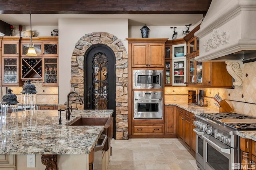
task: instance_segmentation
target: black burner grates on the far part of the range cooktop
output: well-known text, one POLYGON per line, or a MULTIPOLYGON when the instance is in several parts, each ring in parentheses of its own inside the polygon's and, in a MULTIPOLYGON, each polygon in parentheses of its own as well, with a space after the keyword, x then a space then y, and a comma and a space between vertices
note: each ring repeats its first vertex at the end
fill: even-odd
POLYGON ((201 113, 201 115, 214 121, 220 121, 220 119, 255 119, 254 117, 242 115, 239 113, 201 113))

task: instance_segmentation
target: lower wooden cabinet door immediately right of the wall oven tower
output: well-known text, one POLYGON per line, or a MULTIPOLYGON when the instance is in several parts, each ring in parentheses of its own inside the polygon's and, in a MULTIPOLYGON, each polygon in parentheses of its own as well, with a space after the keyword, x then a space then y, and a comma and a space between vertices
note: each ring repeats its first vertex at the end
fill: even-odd
POLYGON ((176 135, 176 107, 166 106, 165 115, 165 135, 176 135))

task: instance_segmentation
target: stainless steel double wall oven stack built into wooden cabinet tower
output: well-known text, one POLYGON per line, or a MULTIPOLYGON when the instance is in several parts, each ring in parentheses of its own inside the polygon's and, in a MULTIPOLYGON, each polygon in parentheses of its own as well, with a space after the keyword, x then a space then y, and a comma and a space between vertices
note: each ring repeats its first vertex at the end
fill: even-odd
POLYGON ((163 119, 163 70, 134 70, 134 119, 163 119), (146 90, 146 91, 144 91, 146 90))

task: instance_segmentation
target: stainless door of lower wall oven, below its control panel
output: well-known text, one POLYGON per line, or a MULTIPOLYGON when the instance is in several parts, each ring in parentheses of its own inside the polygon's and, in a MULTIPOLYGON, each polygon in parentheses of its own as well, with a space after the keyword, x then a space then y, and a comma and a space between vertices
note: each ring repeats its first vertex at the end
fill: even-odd
POLYGON ((163 98, 134 97, 134 119, 162 119, 163 98))

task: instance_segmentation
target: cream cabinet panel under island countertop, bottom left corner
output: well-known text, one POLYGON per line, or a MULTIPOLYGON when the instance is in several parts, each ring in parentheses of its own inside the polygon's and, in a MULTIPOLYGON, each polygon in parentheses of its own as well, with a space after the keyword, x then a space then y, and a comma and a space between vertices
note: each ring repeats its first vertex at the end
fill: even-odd
POLYGON ((0 155, 1 170, 16 170, 16 155, 1 154, 0 155))

